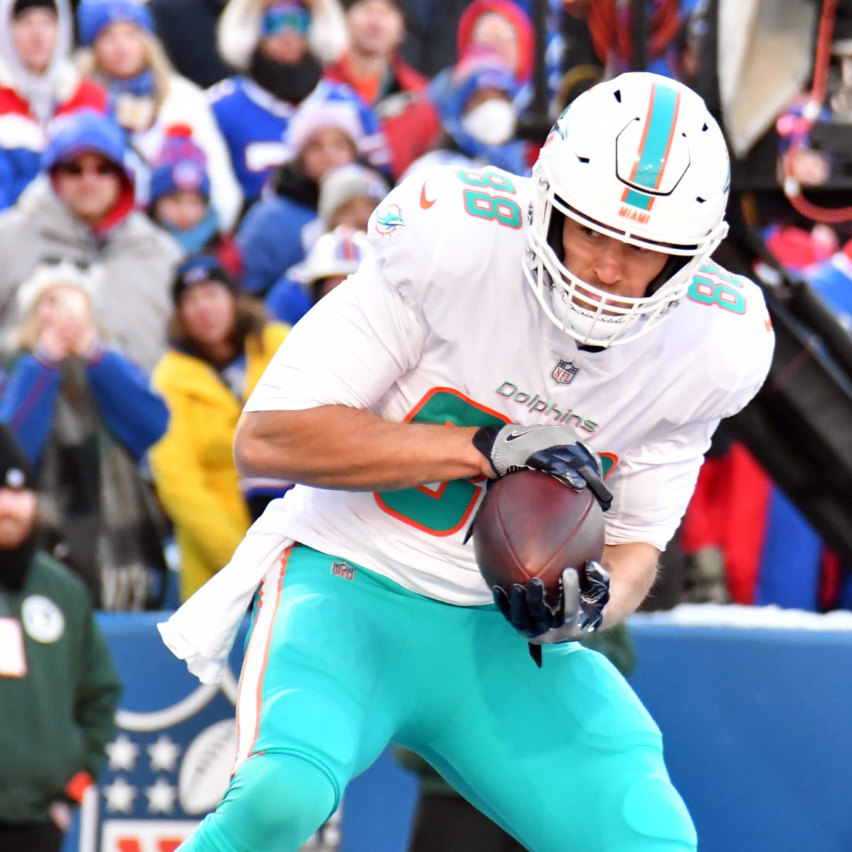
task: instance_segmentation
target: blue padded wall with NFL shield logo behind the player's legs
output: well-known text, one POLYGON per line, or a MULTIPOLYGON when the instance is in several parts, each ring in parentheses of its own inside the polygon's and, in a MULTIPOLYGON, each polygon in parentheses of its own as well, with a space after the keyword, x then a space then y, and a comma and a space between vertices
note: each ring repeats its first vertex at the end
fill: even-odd
MULTIPOLYGON (((852 849, 848 617, 818 630, 631 620, 630 682, 663 731, 701 852, 852 849)), ((110 765, 63 852, 172 852, 225 783, 242 635, 223 688, 202 687, 160 642, 158 618, 99 616, 124 695, 110 765)), ((415 792, 385 753, 348 789, 341 852, 404 852, 415 792)))

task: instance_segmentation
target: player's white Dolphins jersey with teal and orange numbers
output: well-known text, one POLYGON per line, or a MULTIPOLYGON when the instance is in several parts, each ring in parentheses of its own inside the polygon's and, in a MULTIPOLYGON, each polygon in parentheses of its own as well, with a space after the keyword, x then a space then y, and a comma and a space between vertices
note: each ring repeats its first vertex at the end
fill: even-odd
MULTIPOLYGON (((656 330, 579 349, 524 279, 530 190, 493 169, 403 181, 371 218, 371 254, 294 327, 245 410, 340 404, 393 421, 570 423, 607 470, 607 544, 663 550, 719 419, 769 370, 763 294, 710 262, 656 330)), ((463 538, 483 492, 481 481, 383 493, 298 485, 263 523, 407 589, 475 605, 492 596, 463 538)))

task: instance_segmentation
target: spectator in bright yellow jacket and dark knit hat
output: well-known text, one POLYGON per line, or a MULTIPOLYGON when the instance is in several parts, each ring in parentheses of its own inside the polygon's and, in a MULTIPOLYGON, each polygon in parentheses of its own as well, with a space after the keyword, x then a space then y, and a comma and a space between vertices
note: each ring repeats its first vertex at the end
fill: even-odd
POLYGON ((289 329, 268 322, 250 296, 239 295, 212 256, 181 264, 172 300, 170 348, 153 373, 170 425, 150 458, 175 525, 186 600, 230 560, 251 520, 289 486, 240 482, 231 449, 243 404, 289 329))

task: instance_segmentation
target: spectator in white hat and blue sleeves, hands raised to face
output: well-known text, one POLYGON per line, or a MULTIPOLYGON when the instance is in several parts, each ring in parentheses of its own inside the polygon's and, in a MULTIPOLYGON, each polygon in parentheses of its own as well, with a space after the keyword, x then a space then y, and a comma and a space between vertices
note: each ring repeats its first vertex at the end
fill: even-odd
POLYGON ((75 570, 97 606, 153 606, 164 579, 163 518, 139 463, 169 412, 96 323, 101 270, 45 259, 17 292, 17 348, 0 397, 33 467, 46 548, 75 570))

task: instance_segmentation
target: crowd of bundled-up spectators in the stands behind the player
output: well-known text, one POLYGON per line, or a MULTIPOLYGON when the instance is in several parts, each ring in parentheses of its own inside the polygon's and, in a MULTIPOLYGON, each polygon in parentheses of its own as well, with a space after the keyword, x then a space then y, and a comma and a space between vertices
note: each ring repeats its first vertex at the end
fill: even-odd
MULTIPOLYGON (((548 4, 549 118, 630 67, 631 5, 548 4)), ((694 76, 701 6, 648 3, 653 70, 694 76)), ((239 481, 233 426, 287 327, 357 262, 389 188, 432 164, 528 174, 540 141, 520 130, 535 100, 532 11, 524 0, 0 3, 0 420, 37 471, 50 552, 96 606, 185 598, 286 488, 239 481)), ((767 243, 848 317, 837 281, 849 280, 849 245, 815 233, 776 227, 767 243)), ((825 608, 830 555, 812 545, 821 567, 795 594, 771 577, 768 513, 782 498, 745 448, 718 445, 678 542, 678 599, 825 608), (737 504, 751 537, 726 541, 733 527, 714 513, 730 509, 718 489, 730 502, 734 467, 734 482, 751 481, 751 502, 737 504)))

